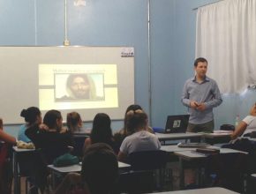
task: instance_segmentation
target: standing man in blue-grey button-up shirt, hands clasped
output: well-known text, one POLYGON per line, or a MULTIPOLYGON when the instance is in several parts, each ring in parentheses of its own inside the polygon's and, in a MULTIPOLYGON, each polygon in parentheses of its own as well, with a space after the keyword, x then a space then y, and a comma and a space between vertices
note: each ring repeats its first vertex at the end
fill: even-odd
POLYGON ((189 132, 213 132, 215 129, 213 108, 222 103, 222 96, 214 79, 207 77, 207 59, 194 62, 196 75, 186 80, 182 103, 189 108, 189 132))

